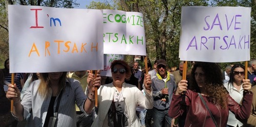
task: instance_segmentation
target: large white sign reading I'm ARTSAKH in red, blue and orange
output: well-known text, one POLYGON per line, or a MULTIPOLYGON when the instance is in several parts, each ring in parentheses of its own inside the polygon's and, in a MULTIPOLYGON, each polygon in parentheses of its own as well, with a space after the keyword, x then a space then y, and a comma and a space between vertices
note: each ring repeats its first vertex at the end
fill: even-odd
POLYGON ((8 8, 10 72, 103 69, 102 10, 8 8))

